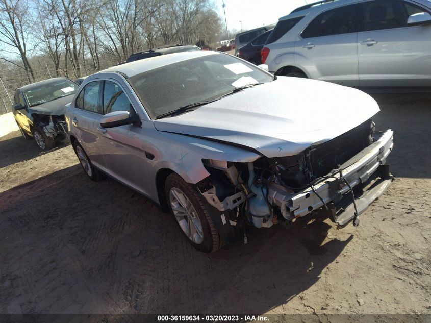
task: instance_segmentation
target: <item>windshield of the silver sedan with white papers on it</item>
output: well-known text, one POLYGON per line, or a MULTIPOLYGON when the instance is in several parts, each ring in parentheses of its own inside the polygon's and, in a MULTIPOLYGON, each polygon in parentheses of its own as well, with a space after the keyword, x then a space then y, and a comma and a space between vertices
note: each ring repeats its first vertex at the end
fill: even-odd
POLYGON ((271 82, 272 76, 236 57, 214 54, 143 72, 128 81, 150 117, 156 118, 247 84, 271 82))

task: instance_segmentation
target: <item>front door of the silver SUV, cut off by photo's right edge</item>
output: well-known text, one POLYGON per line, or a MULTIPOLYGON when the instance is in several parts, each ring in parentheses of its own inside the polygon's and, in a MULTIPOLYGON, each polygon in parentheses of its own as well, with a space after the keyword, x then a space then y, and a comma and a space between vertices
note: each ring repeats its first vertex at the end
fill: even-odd
POLYGON ((428 12, 403 0, 363 3, 358 34, 360 86, 430 86, 431 26, 407 26, 428 12))

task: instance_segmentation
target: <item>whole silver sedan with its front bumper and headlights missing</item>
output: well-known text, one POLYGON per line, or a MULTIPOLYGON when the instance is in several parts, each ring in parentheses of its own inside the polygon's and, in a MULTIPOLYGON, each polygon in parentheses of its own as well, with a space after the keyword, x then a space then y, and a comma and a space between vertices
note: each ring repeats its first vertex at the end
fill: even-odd
POLYGON ((245 238, 247 225, 314 211, 358 225, 392 179, 392 131, 374 131, 378 111, 356 89, 196 51, 89 76, 66 120, 90 179, 138 191, 211 253, 245 238))

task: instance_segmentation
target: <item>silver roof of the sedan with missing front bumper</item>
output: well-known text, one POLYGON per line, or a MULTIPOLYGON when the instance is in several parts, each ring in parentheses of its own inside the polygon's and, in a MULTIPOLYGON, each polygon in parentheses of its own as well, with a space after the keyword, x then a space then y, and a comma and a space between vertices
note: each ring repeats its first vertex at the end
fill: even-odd
POLYGON ((214 52, 214 51, 189 51, 189 52, 172 53, 169 55, 149 57, 143 60, 137 60, 130 63, 122 64, 122 65, 113 66, 113 67, 104 69, 102 71, 99 71, 96 74, 115 72, 115 73, 122 74, 122 76, 124 77, 130 78, 137 74, 140 74, 152 69, 156 69, 159 67, 163 67, 166 65, 186 61, 197 57, 203 57, 208 55, 219 55, 219 54, 221 53, 214 52))

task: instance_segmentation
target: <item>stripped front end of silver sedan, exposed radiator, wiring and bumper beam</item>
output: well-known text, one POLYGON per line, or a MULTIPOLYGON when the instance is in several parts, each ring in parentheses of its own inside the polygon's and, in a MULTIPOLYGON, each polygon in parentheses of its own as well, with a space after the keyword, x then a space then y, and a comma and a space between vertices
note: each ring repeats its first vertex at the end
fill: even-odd
POLYGON ((298 155, 250 163, 204 160, 211 176, 197 184, 224 225, 258 228, 312 212, 345 226, 389 187, 386 159, 393 131, 376 132, 372 120, 298 155))

